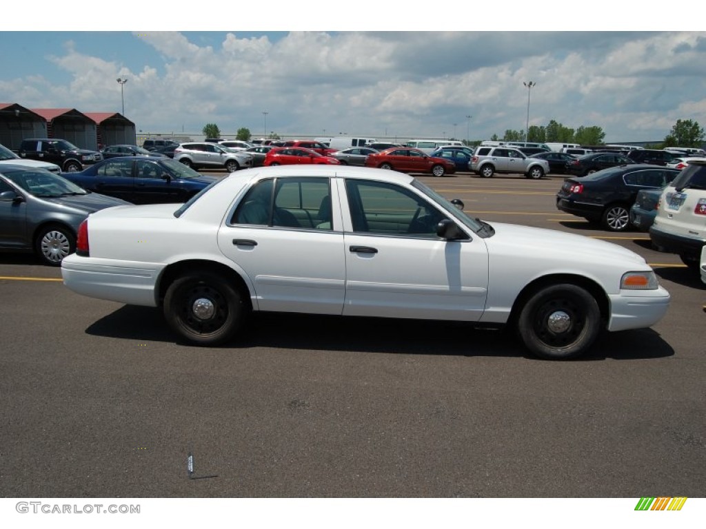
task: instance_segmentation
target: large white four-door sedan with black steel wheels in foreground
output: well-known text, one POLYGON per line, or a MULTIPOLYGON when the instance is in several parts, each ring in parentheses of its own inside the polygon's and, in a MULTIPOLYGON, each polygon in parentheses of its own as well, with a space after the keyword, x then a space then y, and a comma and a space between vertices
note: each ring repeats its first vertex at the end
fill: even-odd
POLYGON ((345 166, 247 169, 184 205, 96 212, 61 273, 85 296, 161 307, 205 346, 260 310, 507 325, 542 358, 575 358, 669 306, 621 246, 491 226, 411 176, 345 166))

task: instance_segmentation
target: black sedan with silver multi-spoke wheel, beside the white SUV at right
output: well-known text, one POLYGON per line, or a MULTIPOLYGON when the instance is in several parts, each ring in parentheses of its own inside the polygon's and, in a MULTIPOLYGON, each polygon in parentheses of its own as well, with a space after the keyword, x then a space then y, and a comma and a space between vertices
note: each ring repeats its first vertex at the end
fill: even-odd
POLYGON ((600 222, 609 231, 630 228, 630 207, 641 189, 662 189, 678 176, 677 169, 648 164, 611 167, 583 178, 566 178, 556 193, 563 212, 600 222))

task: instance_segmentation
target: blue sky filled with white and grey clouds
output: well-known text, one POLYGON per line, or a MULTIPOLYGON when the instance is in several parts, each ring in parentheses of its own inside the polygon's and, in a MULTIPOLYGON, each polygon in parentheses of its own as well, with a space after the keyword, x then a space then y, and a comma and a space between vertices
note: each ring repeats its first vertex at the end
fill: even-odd
MULTIPOLYGON (((415 13, 417 22, 429 16, 415 13)), ((706 125, 706 32, 287 24, 277 20, 270 32, 2 31, 0 102, 120 112, 116 78, 124 78, 125 115, 143 133, 198 134, 216 123, 226 135, 246 127, 253 137, 487 139, 525 128, 528 95, 530 125, 600 126, 606 142, 662 140, 680 118, 706 125), (530 80, 537 84, 528 92, 530 80)))

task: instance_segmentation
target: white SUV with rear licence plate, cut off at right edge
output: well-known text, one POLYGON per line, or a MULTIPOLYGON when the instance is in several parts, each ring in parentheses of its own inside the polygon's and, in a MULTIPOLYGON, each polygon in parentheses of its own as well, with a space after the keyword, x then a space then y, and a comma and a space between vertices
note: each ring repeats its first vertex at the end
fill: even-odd
POLYGON ((678 254, 688 267, 698 269, 701 249, 706 245, 706 160, 690 162, 664 188, 650 239, 678 254))

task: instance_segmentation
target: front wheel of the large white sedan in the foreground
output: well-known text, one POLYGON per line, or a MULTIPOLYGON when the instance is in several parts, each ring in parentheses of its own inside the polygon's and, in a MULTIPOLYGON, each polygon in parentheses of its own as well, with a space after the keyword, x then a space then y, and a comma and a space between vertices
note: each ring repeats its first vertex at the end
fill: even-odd
POLYGON ((537 291, 522 307, 517 332, 539 358, 577 358, 600 331, 598 303, 580 286, 557 284, 537 291))

